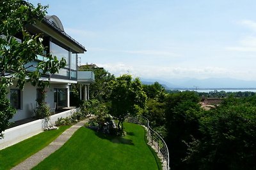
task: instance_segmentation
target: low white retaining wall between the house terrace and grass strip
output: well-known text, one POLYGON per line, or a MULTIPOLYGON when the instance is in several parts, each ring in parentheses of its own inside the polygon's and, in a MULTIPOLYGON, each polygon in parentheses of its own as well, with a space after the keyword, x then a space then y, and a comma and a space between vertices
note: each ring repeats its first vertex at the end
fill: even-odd
MULTIPOLYGON (((55 125, 55 122, 56 120, 58 120, 58 118, 69 117, 74 112, 76 112, 76 109, 63 111, 56 115, 52 115, 51 122, 55 125)), ((33 122, 29 122, 28 124, 23 124, 17 127, 6 129, 6 131, 4 131, 4 138, 0 139, 0 150, 8 146, 12 146, 15 143, 19 143, 20 141, 30 138, 31 136, 34 136, 40 132, 43 132, 45 129, 45 125, 47 125, 47 122, 45 122, 44 119, 40 119, 35 120, 33 122)))

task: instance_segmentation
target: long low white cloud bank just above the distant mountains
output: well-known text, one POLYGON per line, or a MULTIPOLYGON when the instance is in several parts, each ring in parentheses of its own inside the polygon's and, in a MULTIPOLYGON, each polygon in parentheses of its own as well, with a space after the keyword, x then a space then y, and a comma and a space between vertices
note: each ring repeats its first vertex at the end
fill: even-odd
MULTIPOLYGON (((134 67, 125 65, 123 63, 111 63, 111 64, 98 64, 100 67, 104 67, 109 73, 120 76, 121 74, 132 74, 141 78, 157 78, 157 79, 172 79, 172 78, 241 78, 244 79, 245 75, 248 75, 248 71, 227 69, 224 67, 158 67, 158 66, 140 66, 134 67)), ((252 74, 252 73, 251 73, 252 74)))

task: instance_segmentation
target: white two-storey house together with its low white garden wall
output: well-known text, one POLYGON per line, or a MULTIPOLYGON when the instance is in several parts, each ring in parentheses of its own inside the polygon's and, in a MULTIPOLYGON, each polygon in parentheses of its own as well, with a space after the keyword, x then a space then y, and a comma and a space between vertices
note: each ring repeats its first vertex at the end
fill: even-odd
MULTIPOLYGON (((27 30, 31 34, 44 34, 43 44, 45 45, 45 56, 38 55, 37 59, 31 63, 36 65, 41 60, 46 59, 46 54, 51 53, 56 55, 58 59, 64 57, 67 61, 67 66, 60 69, 57 74, 45 74, 42 80, 49 80, 50 85, 47 89, 47 97, 45 102, 51 107, 56 103, 56 110, 70 107, 70 85, 72 83, 80 83, 80 93, 84 88, 84 100, 89 99, 89 86, 93 83, 95 76, 92 71, 77 71, 77 59, 79 53, 86 52, 83 45, 75 39, 68 36, 64 31, 63 25, 55 15, 46 16, 42 22, 37 22, 35 25, 28 25, 27 30)), ((19 35, 16 37, 18 41, 19 35)), ((33 71, 29 70, 29 71, 33 71)), ((13 107, 17 109, 17 113, 13 116, 10 122, 24 122, 35 115, 36 99, 38 98, 37 87, 33 87, 30 83, 26 83, 24 90, 20 90, 14 85, 9 89, 8 97, 13 107)), ((80 99, 82 94, 80 94, 80 99)), ((51 122, 54 122, 60 117, 68 117, 74 113, 76 109, 62 111, 50 117, 51 122)), ((18 125, 3 132, 4 138, 0 139, 0 150, 8 146, 14 145, 26 138, 42 132, 47 127, 48 121, 45 119, 35 120, 27 124, 18 125)))

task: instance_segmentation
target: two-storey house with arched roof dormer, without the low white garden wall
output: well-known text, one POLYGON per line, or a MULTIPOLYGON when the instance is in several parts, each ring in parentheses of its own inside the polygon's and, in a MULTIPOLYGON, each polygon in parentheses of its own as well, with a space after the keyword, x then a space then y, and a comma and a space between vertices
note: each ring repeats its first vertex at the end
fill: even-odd
MULTIPOLYGON (((38 62, 47 59, 47 53, 51 53, 51 55, 56 56, 58 59, 65 58, 67 61, 67 66, 60 69, 59 73, 45 74, 41 78, 50 82, 49 87, 45 89, 47 96, 45 102, 47 105, 50 108, 56 105, 56 110, 69 108, 70 85, 72 83, 81 83, 81 88, 84 88, 84 99, 88 99, 89 85, 94 82, 94 74, 92 71, 77 71, 78 55, 86 52, 84 46, 68 36, 60 19, 55 15, 46 16, 42 22, 28 25, 26 29, 31 34, 43 34, 43 44, 45 46, 44 55, 38 55, 36 60, 28 63, 29 65, 33 64, 36 66, 38 62)), ((17 39, 21 41, 19 35, 17 39)), ((28 71, 33 71, 33 69, 28 71)), ((33 117, 35 115, 36 99, 40 96, 37 87, 26 83, 24 90, 20 90, 14 82, 14 85, 8 90, 10 92, 8 94, 10 103, 17 109, 17 113, 10 121, 15 122, 33 117)))

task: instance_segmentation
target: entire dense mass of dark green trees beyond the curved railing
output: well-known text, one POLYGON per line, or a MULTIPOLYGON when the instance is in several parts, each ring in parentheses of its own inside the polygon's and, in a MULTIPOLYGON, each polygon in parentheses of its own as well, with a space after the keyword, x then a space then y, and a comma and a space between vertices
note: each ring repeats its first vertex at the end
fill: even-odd
POLYGON ((143 115, 167 132, 172 169, 256 169, 256 96, 227 97, 209 111, 199 101, 196 92, 147 101, 143 115))

